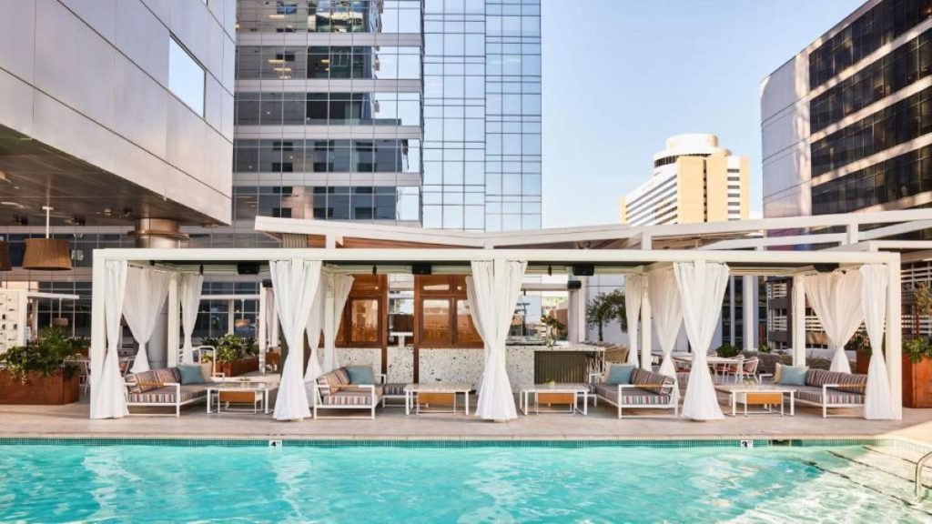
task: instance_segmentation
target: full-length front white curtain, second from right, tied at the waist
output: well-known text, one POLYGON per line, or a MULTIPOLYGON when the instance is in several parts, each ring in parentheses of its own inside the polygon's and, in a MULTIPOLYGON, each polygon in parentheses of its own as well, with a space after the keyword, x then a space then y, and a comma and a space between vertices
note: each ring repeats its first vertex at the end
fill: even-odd
POLYGON ((721 300, 728 285, 728 266, 705 260, 676 262, 673 272, 677 277, 686 336, 692 344, 692 369, 683 398, 683 417, 694 421, 723 419, 706 365, 706 352, 719 322, 721 300))

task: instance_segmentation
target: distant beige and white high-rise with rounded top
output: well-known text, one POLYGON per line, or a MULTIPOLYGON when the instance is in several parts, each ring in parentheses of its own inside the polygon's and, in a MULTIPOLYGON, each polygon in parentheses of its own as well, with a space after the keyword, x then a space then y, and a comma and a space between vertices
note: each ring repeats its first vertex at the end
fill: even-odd
POLYGON ((714 134, 678 134, 653 157, 653 176, 621 200, 623 224, 741 220, 748 215, 747 157, 714 134))

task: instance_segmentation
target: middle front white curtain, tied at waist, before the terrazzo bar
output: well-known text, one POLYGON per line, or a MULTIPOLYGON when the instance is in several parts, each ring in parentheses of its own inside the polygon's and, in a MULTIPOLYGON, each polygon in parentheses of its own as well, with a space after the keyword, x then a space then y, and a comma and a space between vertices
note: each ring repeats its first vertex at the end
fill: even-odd
POLYGON ((466 278, 470 314, 485 345, 485 365, 475 408, 475 415, 483 419, 517 418, 505 368, 505 340, 527 268, 527 262, 478 260, 473 261, 473 275, 466 278))

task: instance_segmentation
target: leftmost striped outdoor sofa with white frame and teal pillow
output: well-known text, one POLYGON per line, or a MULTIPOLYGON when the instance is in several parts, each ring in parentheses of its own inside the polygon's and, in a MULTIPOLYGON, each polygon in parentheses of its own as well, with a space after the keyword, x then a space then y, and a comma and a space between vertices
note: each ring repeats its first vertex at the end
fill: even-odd
POLYGON ((211 384, 210 380, 202 384, 182 384, 177 367, 130 373, 124 382, 128 407, 174 407, 175 417, 181 416, 182 406, 206 400, 211 384))

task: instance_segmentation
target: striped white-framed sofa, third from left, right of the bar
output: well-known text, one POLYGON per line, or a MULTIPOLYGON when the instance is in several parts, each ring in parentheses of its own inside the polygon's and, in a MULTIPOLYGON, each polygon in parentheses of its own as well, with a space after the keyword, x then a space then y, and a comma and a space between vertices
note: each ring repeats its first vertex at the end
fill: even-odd
MULTIPOLYGON (((629 384, 592 384, 592 392, 598 401, 609 403, 618 408, 618 418, 622 418, 622 410, 627 408, 642 409, 673 409, 674 418, 679 416, 678 394, 676 381, 654 373, 647 369, 636 368, 631 373, 629 384)), ((648 417, 649 415, 640 415, 648 417)))

